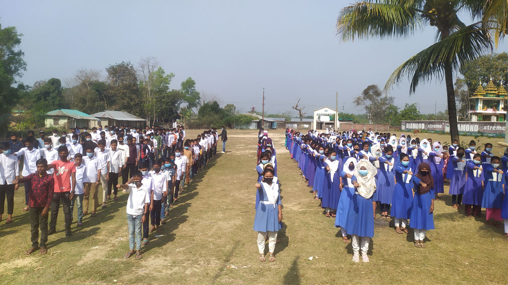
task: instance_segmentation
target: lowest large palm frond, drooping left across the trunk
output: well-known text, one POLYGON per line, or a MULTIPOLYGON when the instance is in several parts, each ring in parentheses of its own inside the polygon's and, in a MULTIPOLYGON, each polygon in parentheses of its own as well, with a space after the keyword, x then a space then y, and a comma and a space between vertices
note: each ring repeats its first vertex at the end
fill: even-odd
POLYGON ((421 82, 431 81, 432 77, 442 79, 445 64, 457 71, 461 64, 479 57, 489 48, 492 50, 492 42, 481 23, 466 26, 400 65, 386 83, 385 92, 407 76, 411 82, 409 93, 414 93, 421 82))

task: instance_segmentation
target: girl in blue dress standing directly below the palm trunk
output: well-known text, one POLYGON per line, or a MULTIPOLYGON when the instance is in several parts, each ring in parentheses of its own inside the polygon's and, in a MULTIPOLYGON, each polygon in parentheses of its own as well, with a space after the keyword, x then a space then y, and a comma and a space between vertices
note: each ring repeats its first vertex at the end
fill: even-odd
POLYGON ((464 194, 464 185, 466 183, 466 174, 464 168, 466 159, 464 158, 464 148, 457 149, 457 155, 450 157, 452 164, 452 179, 450 180, 449 193, 452 195, 452 204, 454 209, 458 209, 462 202, 462 194, 464 194))

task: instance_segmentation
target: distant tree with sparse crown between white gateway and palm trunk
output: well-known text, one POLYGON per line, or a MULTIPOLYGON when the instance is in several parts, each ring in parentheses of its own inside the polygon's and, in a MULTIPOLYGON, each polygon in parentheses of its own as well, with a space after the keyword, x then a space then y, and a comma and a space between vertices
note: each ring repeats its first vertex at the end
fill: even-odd
POLYGON ((395 98, 385 96, 377 85, 369 85, 362 94, 355 98, 357 106, 364 106, 367 115, 370 115, 374 124, 385 123, 388 106, 393 105, 395 98))

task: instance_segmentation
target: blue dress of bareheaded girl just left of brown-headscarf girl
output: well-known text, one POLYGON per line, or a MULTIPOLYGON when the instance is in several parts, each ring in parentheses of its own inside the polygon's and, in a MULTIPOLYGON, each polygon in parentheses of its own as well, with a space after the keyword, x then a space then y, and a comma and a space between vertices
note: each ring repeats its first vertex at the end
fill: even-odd
POLYGON ((400 163, 395 167, 395 189, 393 191, 392 209, 390 216, 396 219, 409 219, 413 201, 412 175, 403 173, 404 170, 411 171, 409 166, 400 163))

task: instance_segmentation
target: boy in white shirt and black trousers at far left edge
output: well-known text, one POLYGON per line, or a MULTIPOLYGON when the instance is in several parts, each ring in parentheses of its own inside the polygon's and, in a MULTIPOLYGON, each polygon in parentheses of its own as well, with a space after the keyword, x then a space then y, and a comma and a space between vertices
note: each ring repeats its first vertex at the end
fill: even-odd
POLYGON ((12 223, 12 213, 14 212, 14 191, 18 190, 18 185, 13 181, 19 179, 18 158, 11 154, 11 145, 9 142, 2 142, 3 154, 0 154, 0 221, 4 215, 4 203, 7 197, 7 215, 6 224, 12 223))

